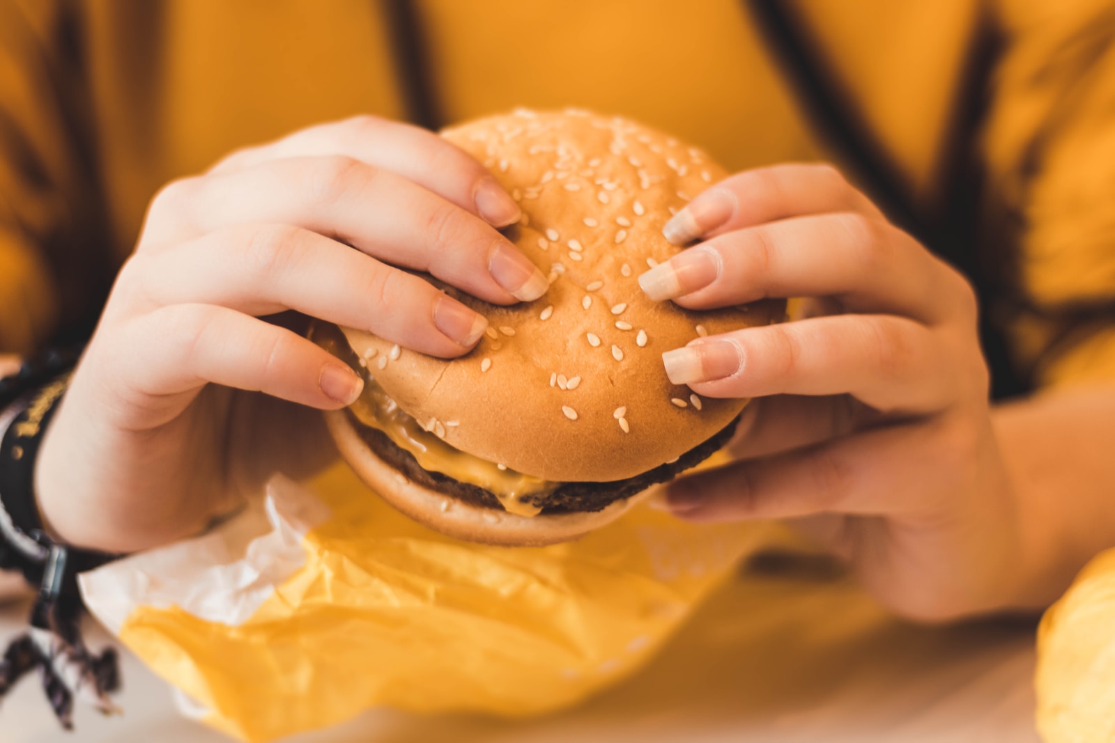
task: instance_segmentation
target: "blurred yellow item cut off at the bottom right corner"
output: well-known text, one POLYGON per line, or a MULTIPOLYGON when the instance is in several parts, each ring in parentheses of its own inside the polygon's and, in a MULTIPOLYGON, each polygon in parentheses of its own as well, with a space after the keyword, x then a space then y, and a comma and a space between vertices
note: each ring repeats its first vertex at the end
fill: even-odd
POLYGON ((1047 743, 1115 741, 1115 549, 1094 558, 1043 617, 1037 696, 1047 743))

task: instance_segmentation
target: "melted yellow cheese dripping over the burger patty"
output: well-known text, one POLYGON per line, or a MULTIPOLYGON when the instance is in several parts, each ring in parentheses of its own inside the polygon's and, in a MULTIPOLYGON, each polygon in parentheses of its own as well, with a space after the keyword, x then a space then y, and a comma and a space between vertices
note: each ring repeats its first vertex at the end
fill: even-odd
POLYGON ((500 469, 494 462, 454 449, 423 429, 367 373, 363 392, 350 409, 361 423, 382 431, 395 446, 414 454, 424 470, 440 472, 488 490, 508 514, 536 516, 542 508, 524 501, 524 498, 558 487, 554 482, 530 475, 500 469))

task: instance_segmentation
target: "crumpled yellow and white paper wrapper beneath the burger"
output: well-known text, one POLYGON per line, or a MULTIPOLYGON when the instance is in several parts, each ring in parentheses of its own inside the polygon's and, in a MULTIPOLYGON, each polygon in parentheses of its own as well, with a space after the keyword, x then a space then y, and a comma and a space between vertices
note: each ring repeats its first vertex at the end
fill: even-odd
POLYGON ((646 663, 772 527, 646 506, 578 541, 436 534, 343 465, 260 508, 81 576, 90 610, 193 715, 244 741, 375 705, 536 715, 646 663))

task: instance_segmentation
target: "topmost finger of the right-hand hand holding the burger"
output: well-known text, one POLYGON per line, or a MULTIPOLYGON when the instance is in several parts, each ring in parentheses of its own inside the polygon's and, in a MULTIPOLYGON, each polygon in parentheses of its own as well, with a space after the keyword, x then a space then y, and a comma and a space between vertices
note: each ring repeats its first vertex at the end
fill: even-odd
POLYGON ((840 170, 823 163, 787 163, 745 170, 697 195, 662 227, 675 245, 701 236, 753 227, 806 214, 882 213, 852 187, 840 170))

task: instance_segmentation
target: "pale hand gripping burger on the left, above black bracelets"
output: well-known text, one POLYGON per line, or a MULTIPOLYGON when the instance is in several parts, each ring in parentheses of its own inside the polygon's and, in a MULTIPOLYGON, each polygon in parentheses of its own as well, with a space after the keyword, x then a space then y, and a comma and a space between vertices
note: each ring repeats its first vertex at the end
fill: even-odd
POLYGON ((372 117, 171 183, 40 450, 48 528, 79 547, 143 549, 197 532, 275 470, 327 463, 312 409, 345 407, 362 383, 259 317, 293 310, 460 355, 486 320, 392 265, 496 304, 537 299, 545 276, 496 231, 518 215, 464 151, 372 117))

